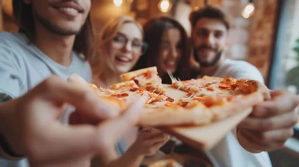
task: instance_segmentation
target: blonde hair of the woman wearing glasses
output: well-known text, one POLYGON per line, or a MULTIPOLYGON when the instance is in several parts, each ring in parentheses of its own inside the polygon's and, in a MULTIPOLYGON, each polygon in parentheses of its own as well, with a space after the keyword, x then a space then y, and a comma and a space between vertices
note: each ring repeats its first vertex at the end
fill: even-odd
POLYGON ((105 26, 103 26, 100 31, 99 38, 99 48, 98 48, 98 56, 91 62, 91 67, 93 70, 93 75, 98 76, 102 74, 105 70, 107 70, 107 54, 108 49, 110 48, 108 45, 112 42, 113 38, 118 32, 118 29, 126 23, 133 23, 137 26, 137 28, 141 31, 142 38, 144 35, 144 31, 142 29, 141 24, 137 22, 134 18, 130 16, 121 16, 111 19, 105 26))

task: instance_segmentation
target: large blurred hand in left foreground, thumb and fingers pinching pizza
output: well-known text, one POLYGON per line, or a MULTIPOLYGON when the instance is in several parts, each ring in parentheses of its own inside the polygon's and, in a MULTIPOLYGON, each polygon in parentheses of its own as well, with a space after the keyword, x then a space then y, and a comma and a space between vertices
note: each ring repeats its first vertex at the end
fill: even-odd
POLYGON ((14 152, 31 166, 89 166, 95 154, 105 154, 139 117, 144 102, 136 100, 119 118, 88 90, 59 77, 49 77, 24 96, 0 104, 1 134, 14 152), (104 120, 100 125, 62 125, 59 117, 72 104, 80 113, 104 120))

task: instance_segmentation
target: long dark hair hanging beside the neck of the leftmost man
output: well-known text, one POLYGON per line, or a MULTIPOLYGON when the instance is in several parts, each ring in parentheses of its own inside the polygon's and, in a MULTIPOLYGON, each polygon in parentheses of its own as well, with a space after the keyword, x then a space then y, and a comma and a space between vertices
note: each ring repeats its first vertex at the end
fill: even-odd
MULTIPOLYGON (((22 0, 13 0, 13 15, 15 15, 16 22, 20 27, 19 32, 24 33, 31 41, 33 41, 35 26, 31 4, 26 4, 22 0)), ((96 51, 95 42, 95 33, 89 13, 82 30, 76 36, 73 49, 79 54, 83 54, 86 60, 92 60, 96 51)))

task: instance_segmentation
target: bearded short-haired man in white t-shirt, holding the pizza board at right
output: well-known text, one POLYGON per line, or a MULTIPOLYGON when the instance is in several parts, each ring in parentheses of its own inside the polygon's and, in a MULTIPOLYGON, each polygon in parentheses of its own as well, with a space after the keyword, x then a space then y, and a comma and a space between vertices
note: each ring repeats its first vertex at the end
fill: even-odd
MULTIPOLYGON (((225 58, 229 46, 229 17, 213 6, 190 14, 194 58, 200 64, 201 76, 248 78, 263 82, 261 72, 245 61, 225 58)), ((207 152, 215 166, 272 166, 267 151, 284 145, 293 135, 298 105, 295 95, 273 91, 272 100, 254 108, 252 114, 233 132, 207 152), (283 101, 283 102, 282 102, 283 101), (284 102, 286 102, 284 104, 284 102), (236 132, 236 133, 235 133, 236 132)))

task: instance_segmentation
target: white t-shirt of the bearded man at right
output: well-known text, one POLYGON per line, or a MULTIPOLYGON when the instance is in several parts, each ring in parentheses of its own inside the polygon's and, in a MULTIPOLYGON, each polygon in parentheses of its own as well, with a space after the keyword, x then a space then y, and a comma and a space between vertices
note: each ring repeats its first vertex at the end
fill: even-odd
MULTIPOLYGON (((224 60, 213 77, 233 77, 235 79, 255 79, 263 83, 261 72, 245 61, 224 60)), ((222 167, 270 167, 272 166, 268 152, 253 154, 247 152, 238 140, 229 132, 215 148, 206 152, 215 166, 222 167)))

